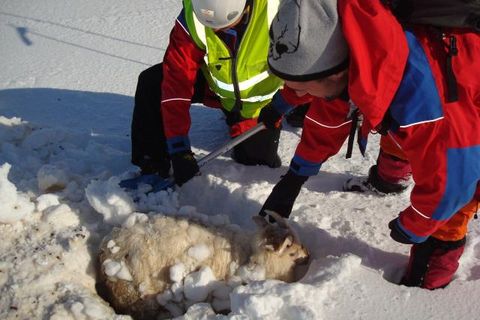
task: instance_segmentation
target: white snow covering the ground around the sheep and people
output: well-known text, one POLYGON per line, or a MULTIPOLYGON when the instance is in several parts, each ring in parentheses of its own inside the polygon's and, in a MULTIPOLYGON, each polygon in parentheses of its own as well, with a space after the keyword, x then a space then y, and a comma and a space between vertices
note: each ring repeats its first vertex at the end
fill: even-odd
MULTIPOLYGON (((137 170, 129 163, 129 130, 138 74, 162 60, 180 5, 2 1, 1 319, 129 319, 115 314, 95 287, 96 253, 114 226, 145 221, 142 213, 164 213, 203 215, 217 225, 231 221, 251 230, 251 217, 286 172, 301 133, 288 125, 280 142, 281 168, 246 167, 226 155, 176 190, 142 195, 118 186, 137 170)), ((228 141, 218 110, 197 105, 191 113, 197 156, 228 141)), ((380 197, 341 191, 347 178, 367 173, 377 143, 377 137, 370 140, 365 158, 356 152, 346 160, 343 148, 305 184, 290 219, 312 257, 299 282, 256 281, 231 291, 216 287, 211 271, 202 269, 171 293, 191 298, 187 314, 173 304, 172 311, 179 319, 476 319, 477 221, 470 224, 451 285, 407 288, 395 282, 409 248, 389 238, 387 223, 408 204, 408 192, 380 197), (209 292, 216 309, 227 306, 228 314, 194 303, 209 292)), ((192 254, 201 259, 204 249, 192 254)), ((185 276, 180 265, 172 269, 172 279, 185 276)), ((119 262, 108 270, 129 276, 119 262)))

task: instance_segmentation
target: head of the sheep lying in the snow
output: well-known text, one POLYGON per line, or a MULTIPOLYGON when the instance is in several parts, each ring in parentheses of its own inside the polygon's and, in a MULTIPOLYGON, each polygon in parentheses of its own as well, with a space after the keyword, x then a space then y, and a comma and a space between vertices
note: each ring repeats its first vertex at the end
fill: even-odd
POLYGON ((299 274, 298 267, 308 263, 308 251, 283 217, 276 212, 267 213, 276 223, 270 224, 259 216, 253 218, 260 231, 256 236, 250 263, 264 266, 266 278, 296 281, 303 276, 299 274))

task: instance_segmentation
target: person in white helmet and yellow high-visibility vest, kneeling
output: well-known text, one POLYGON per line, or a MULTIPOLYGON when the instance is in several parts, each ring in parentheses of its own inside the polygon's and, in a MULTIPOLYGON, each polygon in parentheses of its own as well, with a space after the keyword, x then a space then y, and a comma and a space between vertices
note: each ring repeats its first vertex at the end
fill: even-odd
MULTIPOLYGON (((220 108, 232 137, 252 128, 257 121, 264 121, 262 112, 266 105, 273 105, 266 112, 275 115, 290 108, 280 94, 275 94, 282 81, 268 72, 268 17, 276 9, 270 7, 270 2, 183 2, 163 62, 144 70, 138 79, 131 125, 131 161, 140 167, 143 177, 167 177, 172 165, 175 182, 182 185, 198 173, 188 137, 191 103, 220 108), (205 39, 199 36, 200 32, 205 39), (253 38, 265 41, 259 43, 253 38), (250 51, 264 51, 265 56, 249 56, 250 51), (216 64, 211 61, 215 55, 220 55, 215 57, 216 64), (215 78, 214 72, 220 69, 228 71, 230 79, 215 78), (245 75, 250 78, 238 79, 245 75), (231 95, 235 91, 234 98, 226 96, 227 90, 231 95), (225 102, 227 99, 230 100, 225 102), (232 100, 233 107, 228 105, 232 100)), ((245 165, 280 167, 280 130, 273 126, 235 146, 233 159, 245 165)), ((133 179, 133 187, 142 181, 142 175, 133 179)), ((129 185, 130 182, 126 186, 129 185)))

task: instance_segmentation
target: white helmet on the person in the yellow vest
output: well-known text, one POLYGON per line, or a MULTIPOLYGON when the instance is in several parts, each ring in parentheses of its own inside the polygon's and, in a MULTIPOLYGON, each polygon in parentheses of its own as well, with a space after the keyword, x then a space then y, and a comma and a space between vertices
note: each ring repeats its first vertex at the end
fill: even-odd
POLYGON ((198 20, 212 29, 222 29, 237 21, 247 0, 192 0, 198 20))

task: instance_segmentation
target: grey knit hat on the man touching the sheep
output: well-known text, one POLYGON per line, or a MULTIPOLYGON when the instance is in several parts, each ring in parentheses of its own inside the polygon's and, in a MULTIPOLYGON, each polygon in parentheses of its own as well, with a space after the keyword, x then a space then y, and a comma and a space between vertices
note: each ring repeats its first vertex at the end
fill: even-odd
POLYGON ((270 26, 270 70, 291 81, 335 74, 348 65, 337 0, 282 0, 270 26))

